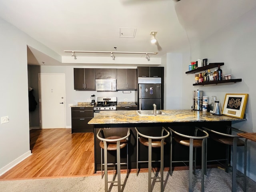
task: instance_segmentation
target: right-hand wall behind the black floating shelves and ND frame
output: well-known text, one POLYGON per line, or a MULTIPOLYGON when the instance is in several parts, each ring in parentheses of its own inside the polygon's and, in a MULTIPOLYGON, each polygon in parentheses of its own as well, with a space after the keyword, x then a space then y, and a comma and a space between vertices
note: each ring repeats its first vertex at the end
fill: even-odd
MULTIPOLYGON (((247 132, 256 132, 256 8, 247 12, 234 22, 224 26, 217 32, 198 42, 191 47, 191 55, 184 54, 183 77, 190 85, 182 84, 182 96, 192 102, 191 90, 203 90, 204 96, 217 96, 223 105, 226 93, 248 93, 246 113, 247 120, 233 123, 236 128, 247 132), (208 62, 224 62, 221 66, 223 75, 231 74, 232 78, 242 78, 242 82, 226 83, 218 85, 192 86, 194 74, 185 74, 188 71, 189 62, 197 58, 208 58, 208 62), (193 88, 192 88, 193 87, 193 88)), ((182 104, 182 107, 186 104, 182 104)), ((187 105, 189 106, 189 105, 187 105)), ((190 105, 191 106, 191 105, 190 105)), ((242 150, 238 150, 238 169, 243 170, 242 150)), ((256 144, 248 141, 248 176, 256 181, 256 144)))

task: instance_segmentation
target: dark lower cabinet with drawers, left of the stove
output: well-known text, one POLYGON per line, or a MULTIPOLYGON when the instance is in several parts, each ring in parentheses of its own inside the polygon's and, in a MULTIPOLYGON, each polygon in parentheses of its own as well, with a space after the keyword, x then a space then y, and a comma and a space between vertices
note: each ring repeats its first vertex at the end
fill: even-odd
POLYGON ((72 107, 72 133, 93 132, 94 125, 88 122, 93 118, 93 107, 72 107))

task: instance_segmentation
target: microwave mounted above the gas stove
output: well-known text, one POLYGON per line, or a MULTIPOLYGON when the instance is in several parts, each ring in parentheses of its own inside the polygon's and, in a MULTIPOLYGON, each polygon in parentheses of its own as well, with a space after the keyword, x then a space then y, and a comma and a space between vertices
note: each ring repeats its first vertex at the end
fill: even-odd
POLYGON ((116 91, 116 79, 96 79, 96 91, 116 91))

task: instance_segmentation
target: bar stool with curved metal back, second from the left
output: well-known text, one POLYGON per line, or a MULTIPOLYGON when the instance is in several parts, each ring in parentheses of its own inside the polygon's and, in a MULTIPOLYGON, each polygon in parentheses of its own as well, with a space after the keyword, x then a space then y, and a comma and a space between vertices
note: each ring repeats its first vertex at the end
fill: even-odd
POLYGON ((148 162, 148 192, 151 192, 151 179, 160 179, 161 182, 161 192, 164 191, 164 182, 163 182, 163 177, 164 177, 164 145, 166 142, 164 142, 164 139, 167 138, 170 133, 166 128, 162 128, 161 131, 161 136, 148 136, 140 133, 138 129, 135 127, 135 130, 137 132, 137 176, 138 176, 138 163, 142 162, 148 162), (167 133, 164 135, 164 131, 167 133), (144 146, 148 147, 148 161, 138 161, 138 141, 144 146), (152 147, 153 148, 161 148, 161 160, 160 161, 152 161, 152 147), (160 162, 160 172, 161 176, 160 177, 152 177, 151 176, 151 169, 152 169, 152 162, 160 162))

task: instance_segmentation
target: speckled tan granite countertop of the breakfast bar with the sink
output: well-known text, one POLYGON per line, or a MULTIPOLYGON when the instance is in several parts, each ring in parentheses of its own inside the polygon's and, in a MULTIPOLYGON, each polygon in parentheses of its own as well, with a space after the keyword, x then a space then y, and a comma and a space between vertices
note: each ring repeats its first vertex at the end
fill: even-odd
POLYGON ((210 112, 195 110, 162 110, 169 115, 143 115, 136 110, 101 111, 88 124, 136 124, 136 123, 170 123, 170 122, 204 122, 204 121, 241 121, 242 119, 210 112))

